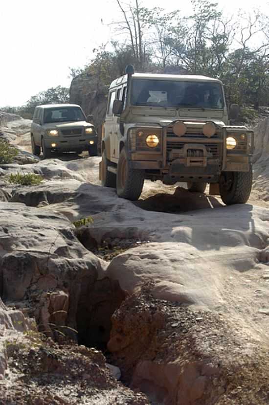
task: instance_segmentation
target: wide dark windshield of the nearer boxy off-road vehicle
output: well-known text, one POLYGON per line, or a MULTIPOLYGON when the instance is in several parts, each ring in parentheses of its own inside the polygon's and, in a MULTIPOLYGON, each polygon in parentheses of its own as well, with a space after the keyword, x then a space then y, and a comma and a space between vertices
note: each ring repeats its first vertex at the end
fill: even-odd
POLYGON ((223 109, 219 83, 133 79, 133 106, 223 109))

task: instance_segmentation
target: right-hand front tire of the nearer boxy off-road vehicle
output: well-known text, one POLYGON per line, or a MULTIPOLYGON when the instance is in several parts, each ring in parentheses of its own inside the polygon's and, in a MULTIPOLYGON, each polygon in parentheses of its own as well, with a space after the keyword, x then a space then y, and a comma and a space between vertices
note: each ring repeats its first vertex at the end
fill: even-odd
POLYGON ((249 172, 223 172, 220 178, 220 195, 226 205, 245 204, 252 186, 252 170, 249 172))

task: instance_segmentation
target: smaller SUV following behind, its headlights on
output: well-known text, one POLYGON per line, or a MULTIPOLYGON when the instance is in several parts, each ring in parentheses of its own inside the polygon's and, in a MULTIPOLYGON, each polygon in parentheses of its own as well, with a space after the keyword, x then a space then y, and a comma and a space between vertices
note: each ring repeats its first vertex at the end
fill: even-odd
POLYGON ((37 106, 31 125, 31 145, 34 155, 53 157, 53 152, 88 151, 97 155, 97 134, 93 124, 76 104, 47 104, 37 106))

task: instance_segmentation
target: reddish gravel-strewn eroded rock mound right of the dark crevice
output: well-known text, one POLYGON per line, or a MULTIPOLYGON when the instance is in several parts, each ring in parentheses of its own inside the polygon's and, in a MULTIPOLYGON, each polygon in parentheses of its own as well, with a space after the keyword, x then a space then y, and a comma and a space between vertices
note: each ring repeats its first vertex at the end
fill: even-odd
POLYGON ((143 287, 112 316, 108 347, 153 404, 267 404, 266 347, 223 316, 154 299, 143 287))

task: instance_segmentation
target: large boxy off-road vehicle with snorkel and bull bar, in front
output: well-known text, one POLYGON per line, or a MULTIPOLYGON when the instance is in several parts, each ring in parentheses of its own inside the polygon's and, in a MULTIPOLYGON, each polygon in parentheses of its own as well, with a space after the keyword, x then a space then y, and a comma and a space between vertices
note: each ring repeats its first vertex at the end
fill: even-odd
MULTIPOLYGON (((238 106, 230 106, 235 117, 238 106)), ((119 197, 137 200, 145 179, 187 182, 190 191, 246 203, 251 191, 253 131, 229 125, 220 80, 134 73, 114 80, 102 130, 99 178, 119 197)))

